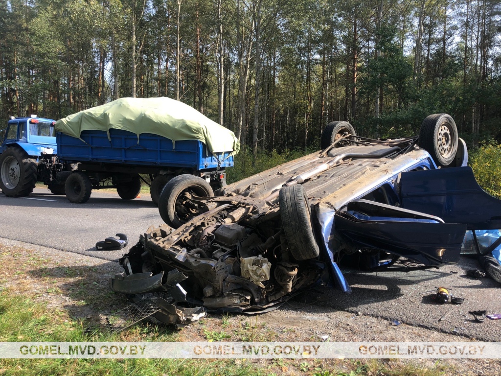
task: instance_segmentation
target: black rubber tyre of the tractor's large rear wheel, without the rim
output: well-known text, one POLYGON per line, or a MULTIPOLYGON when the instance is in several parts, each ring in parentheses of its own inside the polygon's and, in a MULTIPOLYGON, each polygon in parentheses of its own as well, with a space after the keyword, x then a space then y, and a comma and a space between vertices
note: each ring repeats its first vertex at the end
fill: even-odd
POLYGON ((2 153, 0 157, 0 168, 4 168, 4 160, 9 156, 16 158, 19 163, 19 181, 15 187, 8 188, 0 178, 2 192, 8 197, 29 196, 35 189, 35 184, 37 183, 37 162, 35 159, 30 158, 26 151, 17 146, 11 146, 2 153))

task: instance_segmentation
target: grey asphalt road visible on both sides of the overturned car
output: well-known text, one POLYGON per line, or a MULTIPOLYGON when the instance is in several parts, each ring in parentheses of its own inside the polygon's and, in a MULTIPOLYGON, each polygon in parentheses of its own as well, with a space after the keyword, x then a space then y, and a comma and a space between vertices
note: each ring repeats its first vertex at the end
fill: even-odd
MULTIPOLYGON (((0 238, 117 260, 134 245, 149 226, 162 220, 148 194, 132 201, 112 192, 93 192, 86 204, 71 204, 65 196, 36 189, 28 198, 13 199, 0 194, 0 238), (96 242, 125 233, 129 245, 120 251, 96 251, 96 242)), ((395 264, 398 267, 398 263, 395 264)), ((362 273, 352 271, 346 279, 351 295, 327 287, 295 298, 299 315, 346 310, 389 321, 421 326, 482 340, 501 341, 501 320, 476 323, 470 310, 501 313, 501 285, 488 279, 471 279, 466 271, 479 266, 475 259, 462 258, 457 265, 440 269, 362 273), (438 286, 465 298, 461 305, 436 304, 431 298, 438 286), (304 299, 304 302, 303 300, 304 299), (302 304, 306 303, 306 304, 302 304), (444 321, 438 321, 447 312, 444 321)), ((335 323, 333 323, 335 324, 335 323)))

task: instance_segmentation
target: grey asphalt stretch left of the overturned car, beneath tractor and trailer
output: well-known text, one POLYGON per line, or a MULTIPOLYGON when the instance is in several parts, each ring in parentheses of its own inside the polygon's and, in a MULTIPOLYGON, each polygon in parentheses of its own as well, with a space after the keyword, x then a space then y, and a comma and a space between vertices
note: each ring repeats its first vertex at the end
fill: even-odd
POLYGON ((36 188, 25 198, 0 193, 0 237, 117 260, 149 226, 163 223, 149 194, 122 200, 114 192, 93 191, 85 204, 36 188), (117 233, 129 238, 120 251, 96 251, 95 244, 117 233))

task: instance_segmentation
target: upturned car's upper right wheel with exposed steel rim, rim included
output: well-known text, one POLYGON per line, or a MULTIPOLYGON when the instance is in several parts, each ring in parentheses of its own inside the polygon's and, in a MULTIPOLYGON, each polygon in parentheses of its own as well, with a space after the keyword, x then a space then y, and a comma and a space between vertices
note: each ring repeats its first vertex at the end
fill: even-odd
POLYGON ((418 144, 430 153, 437 166, 454 165, 458 144, 456 123, 447 114, 426 117, 419 130, 418 144))

